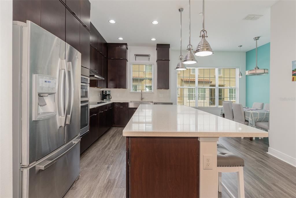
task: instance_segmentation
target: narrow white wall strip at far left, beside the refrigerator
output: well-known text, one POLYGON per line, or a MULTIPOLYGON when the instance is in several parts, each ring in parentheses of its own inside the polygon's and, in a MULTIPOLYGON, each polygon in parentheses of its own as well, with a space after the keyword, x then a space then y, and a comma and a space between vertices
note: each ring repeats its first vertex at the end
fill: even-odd
POLYGON ((12 1, 0 1, 0 197, 12 197, 12 1))

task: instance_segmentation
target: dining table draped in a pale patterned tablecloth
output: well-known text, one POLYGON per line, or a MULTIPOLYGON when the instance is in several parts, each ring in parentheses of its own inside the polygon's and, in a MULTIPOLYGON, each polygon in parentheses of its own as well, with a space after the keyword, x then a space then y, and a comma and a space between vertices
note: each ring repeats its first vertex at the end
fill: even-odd
MULTIPOLYGON (((220 115, 223 116, 224 109, 221 108, 220 115)), ((249 122, 249 126, 255 127, 256 122, 268 122, 269 111, 264 109, 244 107, 245 119, 249 122)))

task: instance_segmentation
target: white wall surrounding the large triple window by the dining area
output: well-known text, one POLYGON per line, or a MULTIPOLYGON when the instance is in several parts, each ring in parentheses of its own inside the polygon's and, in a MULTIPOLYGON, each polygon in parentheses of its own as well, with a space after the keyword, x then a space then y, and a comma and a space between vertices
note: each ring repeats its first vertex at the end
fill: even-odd
MULTIPOLYGON (((186 51, 182 51, 183 56, 186 51)), ((241 53, 241 71, 243 77, 239 79, 239 103, 243 106, 246 104, 246 53, 241 53)), ((170 98, 174 104, 177 104, 177 71, 175 70, 180 55, 180 51, 171 50, 171 90, 170 98)), ((215 52, 214 55, 206 57, 196 57, 197 64, 189 65, 188 67, 194 68, 239 68, 239 52, 215 52)), ((214 108, 214 107, 212 107, 214 108)), ((221 108, 202 108, 203 111, 220 115, 221 108)))

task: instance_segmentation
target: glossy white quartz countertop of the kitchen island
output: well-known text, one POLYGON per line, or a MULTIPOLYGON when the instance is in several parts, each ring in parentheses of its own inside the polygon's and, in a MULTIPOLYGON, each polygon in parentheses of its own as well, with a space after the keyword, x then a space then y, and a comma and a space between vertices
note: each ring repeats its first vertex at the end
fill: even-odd
POLYGON ((192 107, 140 105, 123 136, 268 137, 268 132, 192 107))

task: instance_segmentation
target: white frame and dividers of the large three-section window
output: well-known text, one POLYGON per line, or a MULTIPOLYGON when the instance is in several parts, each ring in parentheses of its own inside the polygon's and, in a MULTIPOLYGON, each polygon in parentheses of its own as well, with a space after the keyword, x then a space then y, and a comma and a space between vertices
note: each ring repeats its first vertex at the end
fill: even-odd
MULTIPOLYGON (((198 93, 198 88, 210 88, 214 89, 215 88, 215 106, 210 106, 210 107, 204 107, 200 106, 200 108, 219 108, 219 89, 235 89, 235 101, 236 103, 239 103, 239 68, 235 68, 235 85, 236 87, 219 87, 219 69, 233 69, 233 68, 200 68, 200 69, 215 69, 215 75, 216 77, 216 86, 215 87, 199 87, 198 86, 198 69, 199 68, 188 68, 188 69, 195 69, 195 107, 198 106, 198 100, 199 98, 199 93, 198 93), (197 100, 196 100, 197 99, 197 100)), ((190 71, 191 72, 191 71, 190 71)), ((221 76, 221 75, 220 75, 221 76)), ((177 81, 178 81, 178 75, 177 75, 177 81)), ((194 88, 192 86, 177 86, 177 101, 178 101, 178 88, 194 88)))

